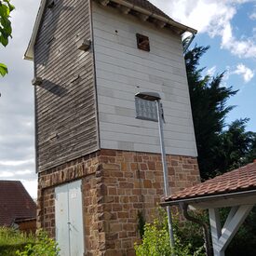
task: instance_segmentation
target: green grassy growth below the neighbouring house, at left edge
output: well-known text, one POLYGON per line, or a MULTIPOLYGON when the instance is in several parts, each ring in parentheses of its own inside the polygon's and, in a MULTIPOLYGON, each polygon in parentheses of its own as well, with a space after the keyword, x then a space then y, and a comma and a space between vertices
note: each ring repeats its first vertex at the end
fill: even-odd
POLYGON ((0 227, 0 255, 15 256, 18 249, 24 249, 27 244, 34 244, 34 235, 26 235, 20 231, 0 227))

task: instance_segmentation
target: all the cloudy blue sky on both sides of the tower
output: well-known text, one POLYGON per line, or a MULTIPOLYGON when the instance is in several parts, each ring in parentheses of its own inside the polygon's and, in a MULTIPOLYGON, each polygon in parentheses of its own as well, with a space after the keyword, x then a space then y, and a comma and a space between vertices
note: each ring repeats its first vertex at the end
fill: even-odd
MULTIPOLYGON (((256 0, 151 0, 174 20, 198 30, 194 44, 210 46, 201 60, 207 74, 226 71, 224 86, 239 89, 227 123, 249 117, 256 131, 256 0)), ((23 61, 39 0, 12 0, 13 39, 0 47, 9 74, 1 78, 0 179, 20 180, 36 197, 33 62, 23 61)), ((194 45, 193 44, 193 45, 194 45)), ((193 47, 192 45, 192 47, 193 47)))

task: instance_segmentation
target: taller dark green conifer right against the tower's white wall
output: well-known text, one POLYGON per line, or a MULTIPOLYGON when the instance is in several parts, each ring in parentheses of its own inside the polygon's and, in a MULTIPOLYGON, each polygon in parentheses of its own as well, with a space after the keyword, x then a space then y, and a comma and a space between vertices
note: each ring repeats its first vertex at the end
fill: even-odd
POLYGON ((220 135, 225 126, 224 119, 233 109, 227 100, 236 90, 222 86, 223 73, 214 77, 203 75, 199 69, 200 58, 209 47, 197 47, 185 54, 185 63, 195 126, 198 164, 201 177, 208 179, 217 171, 217 154, 220 150, 220 135))

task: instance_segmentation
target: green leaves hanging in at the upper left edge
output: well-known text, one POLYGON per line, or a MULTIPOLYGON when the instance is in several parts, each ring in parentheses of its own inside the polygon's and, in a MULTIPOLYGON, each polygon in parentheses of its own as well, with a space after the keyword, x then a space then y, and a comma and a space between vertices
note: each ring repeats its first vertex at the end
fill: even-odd
MULTIPOLYGON (((11 21, 10 12, 14 7, 10 4, 9 0, 0 0, 0 44, 7 47, 8 40, 11 37, 11 21)), ((7 74, 7 65, 0 62, 0 75, 7 74)))

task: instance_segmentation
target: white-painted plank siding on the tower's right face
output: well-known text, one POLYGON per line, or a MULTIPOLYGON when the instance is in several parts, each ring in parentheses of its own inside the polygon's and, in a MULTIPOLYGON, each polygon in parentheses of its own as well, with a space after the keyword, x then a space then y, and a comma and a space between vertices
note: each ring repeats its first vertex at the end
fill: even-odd
POLYGON ((160 93, 168 154, 196 156, 182 42, 171 34, 96 3, 92 8, 101 148, 159 153, 157 123, 137 120, 134 95, 160 93), (150 52, 136 34, 149 36, 150 52))

